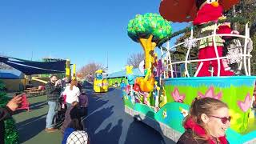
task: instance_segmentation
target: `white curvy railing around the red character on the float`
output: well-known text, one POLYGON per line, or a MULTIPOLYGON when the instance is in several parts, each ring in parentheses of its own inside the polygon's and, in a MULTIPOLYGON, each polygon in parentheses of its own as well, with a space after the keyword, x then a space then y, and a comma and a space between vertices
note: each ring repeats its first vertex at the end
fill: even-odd
POLYGON ((250 76, 250 58, 252 56, 250 55, 251 50, 249 50, 248 47, 247 47, 248 42, 251 42, 250 29, 248 27, 248 23, 245 26, 245 35, 241 35, 241 34, 217 34, 217 29, 218 29, 218 25, 216 23, 216 24, 214 24, 213 34, 209 35, 209 36, 206 36, 206 37, 203 37, 203 38, 194 38, 194 36, 193 36, 194 32, 193 32, 193 29, 191 29, 190 38, 188 38, 188 41, 186 41, 186 42, 190 42, 190 45, 191 45, 191 43, 198 42, 198 41, 200 41, 204 38, 213 38, 214 51, 215 51, 215 54, 216 54, 216 58, 189 60, 190 50, 192 49, 192 46, 187 45, 187 52, 186 52, 185 61, 172 62, 172 59, 171 59, 171 56, 170 56, 171 55, 170 51, 174 51, 178 46, 182 46, 182 45, 186 44, 186 42, 181 42, 181 43, 178 43, 175 46, 170 46, 170 42, 168 41, 168 42, 166 42, 166 48, 165 48, 166 51, 164 51, 164 48, 162 46, 160 46, 161 54, 162 54, 161 58, 162 58, 162 62, 164 63, 163 66, 165 66, 165 68, 166 68, 164 70, 164 78, 166 78, 166 73, 168 74, 169 71, 170 71, 170 77, 174 78, 174 68, 173 68, 173 66, 177 65, 177 64, 185 64, 186 77, 190 77, 190 73, 188 71, 188 63, 201 62, 200 65, 198 66, 198 70, 194 74, 194 77, 197 77, 198 72, 202 68, 203 62, 212 61, 212 60, 217 60, 217 62, 218 62, 217 76, 219 77, 220 76, 220 68, 221 68, 220 67, 221 66, 220 61, 222 59, 227 59, 227 58, 230 58, 230 57, 228 57, 228 56, 220 57, 219 56, 218 50, 217 50, 217 45, 216 45, 217 44, 216 43, 216 37, 218 37, 218 36, 220 36, 220 37, 226 36, 226 37, 234 37, 234 38, 244 39, 243 47, 241 45, 241 42, 239 40, 237 41, 237 45, 238 45, 238 47, 240 47, 239 57, 242 59, 242 62, 239 63, 239 66, 238 66, 239 68, 238 69, 241 70, 241 68, 243 66, 246 76, 250 76))

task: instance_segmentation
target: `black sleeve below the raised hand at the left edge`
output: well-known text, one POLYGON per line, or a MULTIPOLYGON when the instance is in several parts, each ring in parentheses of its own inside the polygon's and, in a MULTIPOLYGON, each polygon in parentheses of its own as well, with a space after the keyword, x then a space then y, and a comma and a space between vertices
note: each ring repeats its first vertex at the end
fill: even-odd
POLYGON ((0 108, 0 144, 4 144, 5 123, 4 120, 10 118, 12 111, 8 107, 0 108))

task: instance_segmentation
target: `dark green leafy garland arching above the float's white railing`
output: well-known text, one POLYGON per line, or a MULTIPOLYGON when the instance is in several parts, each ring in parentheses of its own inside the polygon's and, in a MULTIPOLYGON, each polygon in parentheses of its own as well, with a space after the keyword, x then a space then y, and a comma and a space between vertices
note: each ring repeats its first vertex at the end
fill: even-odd
MULTIPOLYGON (((243 17, 234 17, 234 18, 227 18, 227 19, 224 19, 224 20, 219 20, 217 22, 217 24, 221 24, 223 22, 231 22, 231 23, 239 22, 241 24, 246 24, 247 22, 250 22, 250 20, 246 19, 246 18, 243 18, 243 17)), ((202 27, 211 26, 211 25, 214 25, 214 24, 215 24, 215 22, 209 22, 207 24, 202 24, 200 26, 193 26, 193 29, 194 30, 198 30, 198 29, 200 29, 202 27)), ((162 44, 164 44, 165 42, 169 41, 170 38, 174 38, 174 37, 178 36, 179 34, 187 33, 190 30, 191 30, 191 26, 187 26, 183 30, 179 30, 179 31, 176 31, 173 34, 170 34, 169 36, 167 36, 166 38, 163 38, 160 42, 158 42, 158 47, 162 46, 162 44)))

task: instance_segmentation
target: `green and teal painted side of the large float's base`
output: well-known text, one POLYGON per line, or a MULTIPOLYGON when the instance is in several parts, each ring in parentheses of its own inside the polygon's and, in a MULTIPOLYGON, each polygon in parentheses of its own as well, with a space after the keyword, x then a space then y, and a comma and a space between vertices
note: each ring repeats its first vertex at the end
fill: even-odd
MULTIPOLYGON (((158 112, 150 106, 136 103, 134 105, 134 110, 141 114, 145 114, 150 118, 154 118, 157 122, 162 122, 167 126, 170 126, 174 130, 183 133, 185 130, 182 126, 182 121, 184 119, 181 111, 182 107, 185 110, 189 110, 189 105, 193 98, 198 96, 198 92, 206 94, 210 86, 214 87, 214 94, 222 93, 221 100, 226 102, 238 118, 234 118, 233 128, 226 130, 226 136, 230 143, 240 144, 243 142, 249 142, 253 140, 256 135, 256 130, 250 130, 245 133, 238 133, 239 129, 246 129, 248 114, 250 110, 243 112, 241 108, 238 107, 238 101, 243 102, 247 94, 251 95, 254 90, 256 77, 250 76, 240 76, 240 77, 201 77, 201 78, 168 78, 164 79, 164 87, 166 90, 167 103, 165 106, 161 107, 158 112), (171 93, 175 89, 179 90, 180 94, 185 94, 184 103, 174 102, 171 93), (166 112, 166 117, 163 116, 163 112, 166 112), (244 123, 244 125, 242 125, 244 123), (242 127, 243 126, 243 127, 242 127)), ((130 101, 130 99, 128 99, 130 101)), ((133 106, 131 102, 126 102, 126 105, 133 106)))

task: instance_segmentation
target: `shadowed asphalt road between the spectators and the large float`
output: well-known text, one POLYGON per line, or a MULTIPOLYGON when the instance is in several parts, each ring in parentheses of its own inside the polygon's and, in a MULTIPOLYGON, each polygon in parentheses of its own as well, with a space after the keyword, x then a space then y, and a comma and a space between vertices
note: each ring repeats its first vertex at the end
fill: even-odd
POLYGON ((120 97, 121 90, 110 89, 105 94, 94 94, 92 90, 87 90, 87 94, 90 105, 85 122, 92 144, 174 143, 126 114, 120 97))

